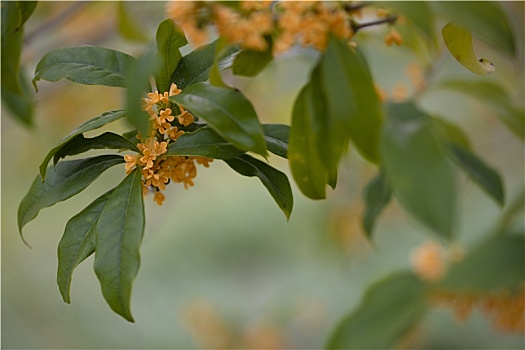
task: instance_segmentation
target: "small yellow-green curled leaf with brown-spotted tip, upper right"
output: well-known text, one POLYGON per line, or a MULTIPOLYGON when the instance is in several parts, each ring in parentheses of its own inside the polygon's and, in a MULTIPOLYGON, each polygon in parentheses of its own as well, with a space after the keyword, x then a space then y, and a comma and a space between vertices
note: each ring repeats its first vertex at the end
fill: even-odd
POLYGON ((472 35, 467 29, 452 22, 445 25, 441 31, 445 45, 454 58, 472 73, 489 75, 496 68, 492 62, 484 58, 478 59, 472 46, 472 35))

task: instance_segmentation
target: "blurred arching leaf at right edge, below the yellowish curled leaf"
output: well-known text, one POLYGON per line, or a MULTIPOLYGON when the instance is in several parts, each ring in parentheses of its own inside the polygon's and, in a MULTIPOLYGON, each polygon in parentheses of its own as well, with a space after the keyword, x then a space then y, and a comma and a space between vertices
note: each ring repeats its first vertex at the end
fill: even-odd
POLYGON ((521 139, 525 139, 525 110, 511 100, 509 92, 491 80, 448 79, 435 85, 476 98, 489 106, 498 118, 521 139))

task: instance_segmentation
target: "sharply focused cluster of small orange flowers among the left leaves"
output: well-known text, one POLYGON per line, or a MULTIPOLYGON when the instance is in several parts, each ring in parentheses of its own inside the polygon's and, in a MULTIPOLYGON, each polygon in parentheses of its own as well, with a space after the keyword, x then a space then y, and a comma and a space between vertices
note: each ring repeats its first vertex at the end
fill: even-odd
POLYGON ((177 138, 184 133, 180 128, 193 123, 193 115, 182 106, 178 106, 169 100, 170 96, 178 95, 181 90, 172 84, 169 92, 160 94, 158 91, 148 94, 143 100, 142 109, 149 115, 150 134, 146 137, 137 135, 142 141, 137 144, 140 154, 127 154, 126 174, 131 173, 137 167, 142 171, 142 189, 145 195, 150 188, 155 191, 153 200, 161 205, 166 197, 161 191, 166 189, 170 182, 183 183, 187 189, 193 186, 193 179, 197 176, 195 162, 209 167, 212 159, 203 157, 167 156, 168 145, 176 142, 177 138), (180 114, 173 115, 174 110, 180 114), (177 119, 179 126, 171 123, 177 119))

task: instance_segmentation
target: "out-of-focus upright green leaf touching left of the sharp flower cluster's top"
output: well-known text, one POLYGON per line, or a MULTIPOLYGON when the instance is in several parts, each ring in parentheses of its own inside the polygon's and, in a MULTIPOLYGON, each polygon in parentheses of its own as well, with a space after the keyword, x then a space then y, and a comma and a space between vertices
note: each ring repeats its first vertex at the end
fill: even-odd
POLYGON ((151 91, 150 78, 156 74, 159 67, 158 58, 148 52, 135 60, 126 71, 126 118, 137 128, 141 135, 149 135, 149 115, 142 110, 144 90, 151 91))

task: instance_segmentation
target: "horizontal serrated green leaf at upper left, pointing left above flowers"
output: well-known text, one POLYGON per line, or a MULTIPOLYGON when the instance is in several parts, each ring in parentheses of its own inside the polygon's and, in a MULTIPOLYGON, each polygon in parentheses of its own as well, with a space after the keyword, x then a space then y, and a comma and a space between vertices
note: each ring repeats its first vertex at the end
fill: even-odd
POLYGON ((135 58, 120 51, 79 46, 48 52, 38 62, 33 84, 67 79, 86 85, 126 87, 126 73, 135 58))

